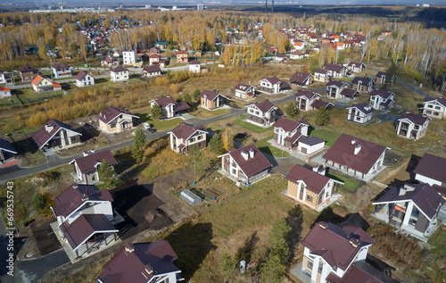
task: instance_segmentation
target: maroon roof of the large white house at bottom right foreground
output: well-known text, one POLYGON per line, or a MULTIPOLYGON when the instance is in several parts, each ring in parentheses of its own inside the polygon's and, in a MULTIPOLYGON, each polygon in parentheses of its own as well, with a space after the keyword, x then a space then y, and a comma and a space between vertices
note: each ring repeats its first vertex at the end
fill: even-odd
POLYGON ((374 241, 363 229, 354 226, 340 228, 330 222, 318 222, 301 242, 311 254, 320 255, 332 268, 347 270, 363 246, 374 241))

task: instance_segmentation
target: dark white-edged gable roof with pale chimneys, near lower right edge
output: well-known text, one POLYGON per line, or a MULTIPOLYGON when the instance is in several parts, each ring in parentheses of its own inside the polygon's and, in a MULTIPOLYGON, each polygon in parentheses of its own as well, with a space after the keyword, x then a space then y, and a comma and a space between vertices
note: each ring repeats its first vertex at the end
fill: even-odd
POLYGON ((393 204, 409 200, 416 204, 430 221, 445 202, 429 184, 405 184, 404 187, 391 187, 373 204, 393 204))

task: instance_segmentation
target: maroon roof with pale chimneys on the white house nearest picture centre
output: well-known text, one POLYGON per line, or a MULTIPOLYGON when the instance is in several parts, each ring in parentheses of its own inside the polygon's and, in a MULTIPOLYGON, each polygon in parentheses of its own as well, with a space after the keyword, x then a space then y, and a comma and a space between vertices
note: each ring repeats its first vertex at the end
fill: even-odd
MULTIPOLYGON (((232 156, 235 163, 244 171, 246 177, 252 177, 253 175, 260 173, 270 167, 272 167, 271 163, 268 162, 268 159, 263 155, 257 146, 249 145, 244 146, 239 149, 231 148, 229 149, 229 155, 232 156), (244 159, 242 152, 250 153, 250 150, 254 151, 254 157, 248 157, 248 160, 244 159)), ((226 154, 224 154, 226 155, 226 154)))

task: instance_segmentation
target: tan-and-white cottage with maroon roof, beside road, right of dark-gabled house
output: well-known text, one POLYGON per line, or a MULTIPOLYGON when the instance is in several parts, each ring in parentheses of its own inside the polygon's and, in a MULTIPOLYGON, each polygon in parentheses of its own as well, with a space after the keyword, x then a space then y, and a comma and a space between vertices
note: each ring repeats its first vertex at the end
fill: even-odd
POLYGON ((125 107, 120 109, 108 107, 103 112, 96 115, 99 121, 99 129, 105 133, 119 133, 126 129, 133 129, 135 119, 139 117, 128 112, 125 107))

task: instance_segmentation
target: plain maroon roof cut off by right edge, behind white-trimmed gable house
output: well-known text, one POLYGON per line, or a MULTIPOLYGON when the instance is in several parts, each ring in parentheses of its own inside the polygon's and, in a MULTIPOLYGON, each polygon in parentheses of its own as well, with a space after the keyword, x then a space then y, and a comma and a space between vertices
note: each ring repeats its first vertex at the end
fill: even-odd
POLYGON ((433 154, 425 154, 418 162, 414 173, 446 183, 446 159, 433 154))

